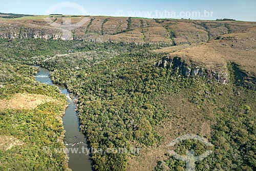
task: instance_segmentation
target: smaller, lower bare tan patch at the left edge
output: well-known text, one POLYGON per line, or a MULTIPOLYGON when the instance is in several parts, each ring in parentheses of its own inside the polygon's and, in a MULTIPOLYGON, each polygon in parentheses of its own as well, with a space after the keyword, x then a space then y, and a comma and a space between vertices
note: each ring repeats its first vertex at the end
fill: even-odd
POLYGON ((23 145, 24 142, 12 136, 0 135, 0 150, 7 151, 16 145, 23 145))

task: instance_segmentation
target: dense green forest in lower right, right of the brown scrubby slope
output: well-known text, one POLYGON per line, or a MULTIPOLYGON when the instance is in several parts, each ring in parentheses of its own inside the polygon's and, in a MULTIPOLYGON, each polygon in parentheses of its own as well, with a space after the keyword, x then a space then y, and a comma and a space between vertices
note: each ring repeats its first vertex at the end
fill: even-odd
MULTIPOLYGON (((236 72, 231 65, 229 69, 230 80, 233 82, 228 86, 209 83, 202 86, 203 82, 199 82, 196 87, 190 87, 190 90, 195 92, 209 91, 206 95, 191 93, 189 96, 198 108, 204 111, 212 108, 215 116, 212 120, 214 124, 211 137, 207 137, 214 145, 214 148, 211 148, 213 153, 203 161, 196 162, 196 170, 256 169, 256 92, 236 86, 236 72)), ((186 140, 175 145, 174 149, 177 154, 185 156, 187 150, 195 149, 196 156, 199 156, 207 150, 206 148, 203 143, 186 140)), ((185 162, 176 160, 168 153, 165 155, 169 159, 158 161, 155 170, 184 170, 185 162)))

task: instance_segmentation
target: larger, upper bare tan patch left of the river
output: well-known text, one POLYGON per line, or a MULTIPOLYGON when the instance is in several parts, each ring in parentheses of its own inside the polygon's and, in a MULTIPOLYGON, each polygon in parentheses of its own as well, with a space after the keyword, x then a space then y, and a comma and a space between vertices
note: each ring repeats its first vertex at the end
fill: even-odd
POLYGON ((37 94, 15 94, 12 99, 1 99, 0 109, 34 109, 37 105, 55 101, 55 99, 37 94))

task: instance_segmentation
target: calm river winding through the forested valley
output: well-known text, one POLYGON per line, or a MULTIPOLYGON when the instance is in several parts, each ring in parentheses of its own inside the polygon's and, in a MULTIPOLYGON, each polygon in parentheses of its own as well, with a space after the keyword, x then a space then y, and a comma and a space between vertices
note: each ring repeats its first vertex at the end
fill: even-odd
MULTIPOLYGON (((46 83, 50 86, 54 86, 50 78, 50 71, 46 68, 39 67, 39 72, 35 76, 35 80, 46 83)), ((91 161, 88 154, 86 137, 79 129, 79 118, 76 113, 76 104, 73 99, 70 98, 68 90, 59 85, 55 85, 59 88, 61 94, 67 96, 68 107, 66 108, 65 115, 62 117, 65 139, 64 143, 68 149, 69 155, 69 167, 73 171, 91 171, 91 161), (77 151, 77 152, 76 152, 77 151)))

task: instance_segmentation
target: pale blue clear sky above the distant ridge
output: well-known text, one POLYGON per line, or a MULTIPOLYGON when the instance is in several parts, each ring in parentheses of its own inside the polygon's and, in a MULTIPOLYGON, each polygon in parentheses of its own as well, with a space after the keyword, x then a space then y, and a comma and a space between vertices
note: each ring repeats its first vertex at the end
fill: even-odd
POLYGON ((256 0, 1 0, 0 12, 18 14, 71 14, 137 16, 146 18, 232 18, 256 22, 256 0))

